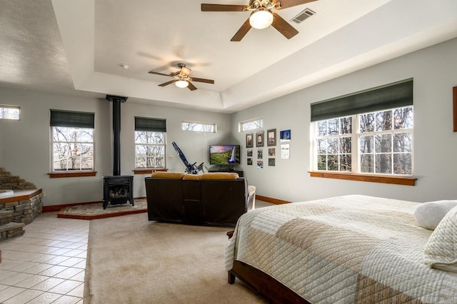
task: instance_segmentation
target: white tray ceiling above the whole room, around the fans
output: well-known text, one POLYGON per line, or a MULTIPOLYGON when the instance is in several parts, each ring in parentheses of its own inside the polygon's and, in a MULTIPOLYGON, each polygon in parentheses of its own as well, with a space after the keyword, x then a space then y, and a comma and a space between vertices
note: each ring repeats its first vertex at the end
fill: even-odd
MULTIPOLYGON (((248 12, 200 4, 248 0, 0 0, 0 86, 231 113, 457 36, 456 0, 318 0, 282 9, 276 29, 231 37, 248 12), (194 82, 171 80, 178 63, 194 82), (119 64, 129 64, 123 69, 119 64)), ((456 50, 457 51, 457 50, 456 50)))

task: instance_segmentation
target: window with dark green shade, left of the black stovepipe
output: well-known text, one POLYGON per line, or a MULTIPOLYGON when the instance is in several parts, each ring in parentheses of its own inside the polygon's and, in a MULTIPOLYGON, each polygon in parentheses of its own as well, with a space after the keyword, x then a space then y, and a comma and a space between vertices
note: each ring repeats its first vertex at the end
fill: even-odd
POLYGON ((94 113, 51 110, 54 173, 94 171, 94 113))

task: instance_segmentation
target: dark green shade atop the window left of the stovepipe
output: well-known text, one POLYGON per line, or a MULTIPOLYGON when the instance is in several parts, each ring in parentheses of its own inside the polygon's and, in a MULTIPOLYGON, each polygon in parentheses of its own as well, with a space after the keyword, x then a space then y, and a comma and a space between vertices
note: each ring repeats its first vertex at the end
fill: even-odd
POLYGON ((95 128, 95 114, 89 112, 51 110, 51 126, 95 128))

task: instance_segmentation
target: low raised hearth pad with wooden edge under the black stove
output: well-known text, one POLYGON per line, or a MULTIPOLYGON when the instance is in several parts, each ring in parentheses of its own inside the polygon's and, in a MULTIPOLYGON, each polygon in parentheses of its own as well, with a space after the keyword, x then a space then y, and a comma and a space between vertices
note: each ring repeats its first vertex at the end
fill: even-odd
POLYGON ((127 214, 145 213, 147 211, 148 206, 146 198, 135 198, 134 206, 131 206, 130 203, 113 206, 109 204, 106 209, 104 209, 103 203, 93 203, 64 207, 57 213, 57 217, 94 220, 96 218, 111 218, 113 216, 125 216, 127 214))

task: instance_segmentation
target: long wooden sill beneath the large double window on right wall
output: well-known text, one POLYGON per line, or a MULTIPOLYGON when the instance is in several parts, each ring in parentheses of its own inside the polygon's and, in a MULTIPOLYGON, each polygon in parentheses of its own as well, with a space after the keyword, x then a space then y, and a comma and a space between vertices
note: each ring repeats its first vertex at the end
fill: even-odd
POLYGON ((417 178, 403 176, 376 176, 370 174, 337 173, 323 171, 311 171, 309 172, 309 175, 311 177, 346 179, 348 181, 369 181, 372 183, 393 183, 396 185, 405 186, 415 186, 417 180, 417 178))

